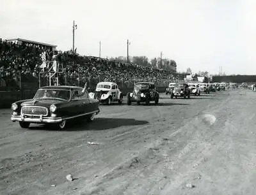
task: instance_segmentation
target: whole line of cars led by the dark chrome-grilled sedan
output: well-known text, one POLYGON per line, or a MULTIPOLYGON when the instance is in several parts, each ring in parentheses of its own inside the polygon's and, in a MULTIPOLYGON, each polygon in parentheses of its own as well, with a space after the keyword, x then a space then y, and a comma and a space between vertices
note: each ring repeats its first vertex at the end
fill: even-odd
MULTIPOLYGON (((191 94, 200 96, 209 93, 214 87, 205 83, 170 83, 166 94, 170 98, 190 98, 191 94)), ((127 105, 132 103, 159 103, 159 92, 152 82, 134 83, 132 92, 127 93, 127 105)), ((11 120, 19 122, 20 127, 28 128, 31 123, 54 124, 64 129, 67 120, 83 117, 93 121, 99 110, 99 103, 111 105, 123 103, 124 94, 114 82, 100 82, 94 92, 75 86, 47 86, 37 90, 33 99, 24 99, 12 104, 11 120)))

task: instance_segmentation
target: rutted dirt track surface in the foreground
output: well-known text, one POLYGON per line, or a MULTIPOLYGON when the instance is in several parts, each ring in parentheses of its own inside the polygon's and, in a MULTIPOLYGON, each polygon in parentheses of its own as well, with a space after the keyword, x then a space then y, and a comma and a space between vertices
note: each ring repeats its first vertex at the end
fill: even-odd
POLYGON ((103 105, 66 131, 0 110, 0 194, 255 194, 256 92, 191 98, 103 105))

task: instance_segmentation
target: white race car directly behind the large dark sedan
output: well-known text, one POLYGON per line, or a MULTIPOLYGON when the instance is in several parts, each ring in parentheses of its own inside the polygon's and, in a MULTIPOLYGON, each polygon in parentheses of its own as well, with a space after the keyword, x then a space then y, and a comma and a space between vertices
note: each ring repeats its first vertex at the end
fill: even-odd
POLYGON ((113 82, 99 82, 95 92, 90 93, 90 97, 107 105, 111 105, 113 102, 118 102, 121 105, 123 102, 123 94, 118 89, 118 85, 113 82))

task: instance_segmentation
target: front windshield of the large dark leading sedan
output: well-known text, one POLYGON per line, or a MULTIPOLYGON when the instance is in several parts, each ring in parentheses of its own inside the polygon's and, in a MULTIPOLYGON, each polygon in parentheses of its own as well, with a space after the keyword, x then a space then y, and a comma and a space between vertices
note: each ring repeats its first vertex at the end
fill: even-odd
POLYGON ((65 89, 38 89, 34 99, 63 99, 70 98, 70 90, 65 89))

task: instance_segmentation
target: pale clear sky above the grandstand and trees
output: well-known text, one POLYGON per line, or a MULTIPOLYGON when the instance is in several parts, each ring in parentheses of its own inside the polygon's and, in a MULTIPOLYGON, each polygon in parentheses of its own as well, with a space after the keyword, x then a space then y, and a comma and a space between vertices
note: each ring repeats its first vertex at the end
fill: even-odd
POLYGON ((173 59, 178 71, 256 75, 255 0, 0 0, 0 38, 81 55, 173 59))

